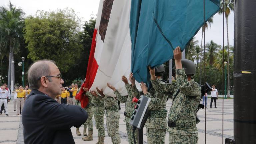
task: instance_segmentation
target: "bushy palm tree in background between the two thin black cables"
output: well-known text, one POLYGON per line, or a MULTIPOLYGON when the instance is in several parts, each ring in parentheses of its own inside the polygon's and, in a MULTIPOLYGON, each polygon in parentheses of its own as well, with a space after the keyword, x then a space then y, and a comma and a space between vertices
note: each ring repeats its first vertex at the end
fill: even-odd
POLYGON ((211 40, 210 43, 207 43, 205 45, 205 47, 207 51, 206 60, 209 62, 209 65, 212 65, 216 57, 216 50, 218 50, 218 48, 220 48, 221 46, 211 40))

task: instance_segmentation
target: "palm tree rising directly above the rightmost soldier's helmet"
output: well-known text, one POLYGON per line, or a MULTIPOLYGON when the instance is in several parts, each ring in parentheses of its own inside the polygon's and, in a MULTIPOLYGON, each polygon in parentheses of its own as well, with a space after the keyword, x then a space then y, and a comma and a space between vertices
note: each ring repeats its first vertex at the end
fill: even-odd
POLYGON ((191 39, 191 41, 188 43, 185 49, 185 55, 186 59, 194 61, 194 55, 196 54, 196 44, 198 43, 198 40, 195 41, 195 37, 191 39))

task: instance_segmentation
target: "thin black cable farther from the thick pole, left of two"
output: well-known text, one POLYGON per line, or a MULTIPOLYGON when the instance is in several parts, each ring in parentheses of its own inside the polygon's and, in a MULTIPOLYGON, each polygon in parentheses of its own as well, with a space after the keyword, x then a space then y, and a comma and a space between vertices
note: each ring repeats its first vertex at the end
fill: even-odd
MULTIPOLYGON (((205 0, 204 0, 204 92, 206 92, 206 76, 205 76, 205 0)), ((204 93, 205 96, 205 93, 204 93)), ((206 103, 206 98, 204 97, 204 102, 206 103)), ((204 108, 204 137, 206 144, 206 107, 204 108)))

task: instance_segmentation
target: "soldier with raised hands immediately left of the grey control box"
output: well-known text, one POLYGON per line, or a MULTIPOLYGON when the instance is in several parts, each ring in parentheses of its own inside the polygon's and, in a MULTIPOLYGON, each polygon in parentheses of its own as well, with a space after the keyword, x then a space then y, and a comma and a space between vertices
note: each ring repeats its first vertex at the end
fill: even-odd
MULTIPOLYGON (((127 96, 121 96, 120 93, 115 89, 115 87, 108 85, 108 87, 110 89, 112 89, 117 97, 117 99, 121 102, 121 103, 125 103, 125 119, 124 122, 126 123, 126 131, 128 134, 128 141, 129 144, 134 144, 134 140, 133 140, 133 126, 130 125, 130 120, 131 120, 131 116, 132 116, 132 112, 134 110, 134 106, 136 105, 136 103, 132 102, 133 99, 133 95, 131 92, 131 85, 128 83, 128 80, 125 76, 122 76, 122 81, 125 83, 125 88, 127 90, 128 95, 127 96)), ((133 85, 135 85, 135 79, 134 77, 132 77, 132 74, 130 74, 130 81, 133 85)), ((139 96, 137 95, 136 98, 139 98, 139 96)), ((138 137, 138 131, 135 131, 135 137, 138 137)), ((138 139, 136 139, 136 143, 138 143, 138 139)))

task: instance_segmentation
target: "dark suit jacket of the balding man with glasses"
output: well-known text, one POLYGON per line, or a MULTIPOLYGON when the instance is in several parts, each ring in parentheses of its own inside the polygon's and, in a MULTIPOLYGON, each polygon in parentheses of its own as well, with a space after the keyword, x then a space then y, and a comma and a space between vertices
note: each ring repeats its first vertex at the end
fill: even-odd
POLYGON ((70 128, 80 127, 87 113, 77 105, 59 104, 38 90, 28 95, 22 124, 25 144, 74 144, 70 128))

